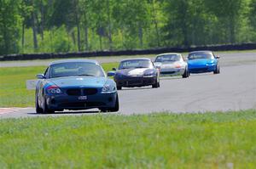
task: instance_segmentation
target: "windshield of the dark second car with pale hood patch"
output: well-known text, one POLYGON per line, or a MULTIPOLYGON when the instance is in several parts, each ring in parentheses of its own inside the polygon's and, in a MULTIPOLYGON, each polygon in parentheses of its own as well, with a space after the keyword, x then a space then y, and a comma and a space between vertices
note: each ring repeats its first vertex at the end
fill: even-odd
POLYGON ((131 68, 149 68, 152 66, 151 61, 146 59, 124 60, 119 65, 119 70, 131 68))

